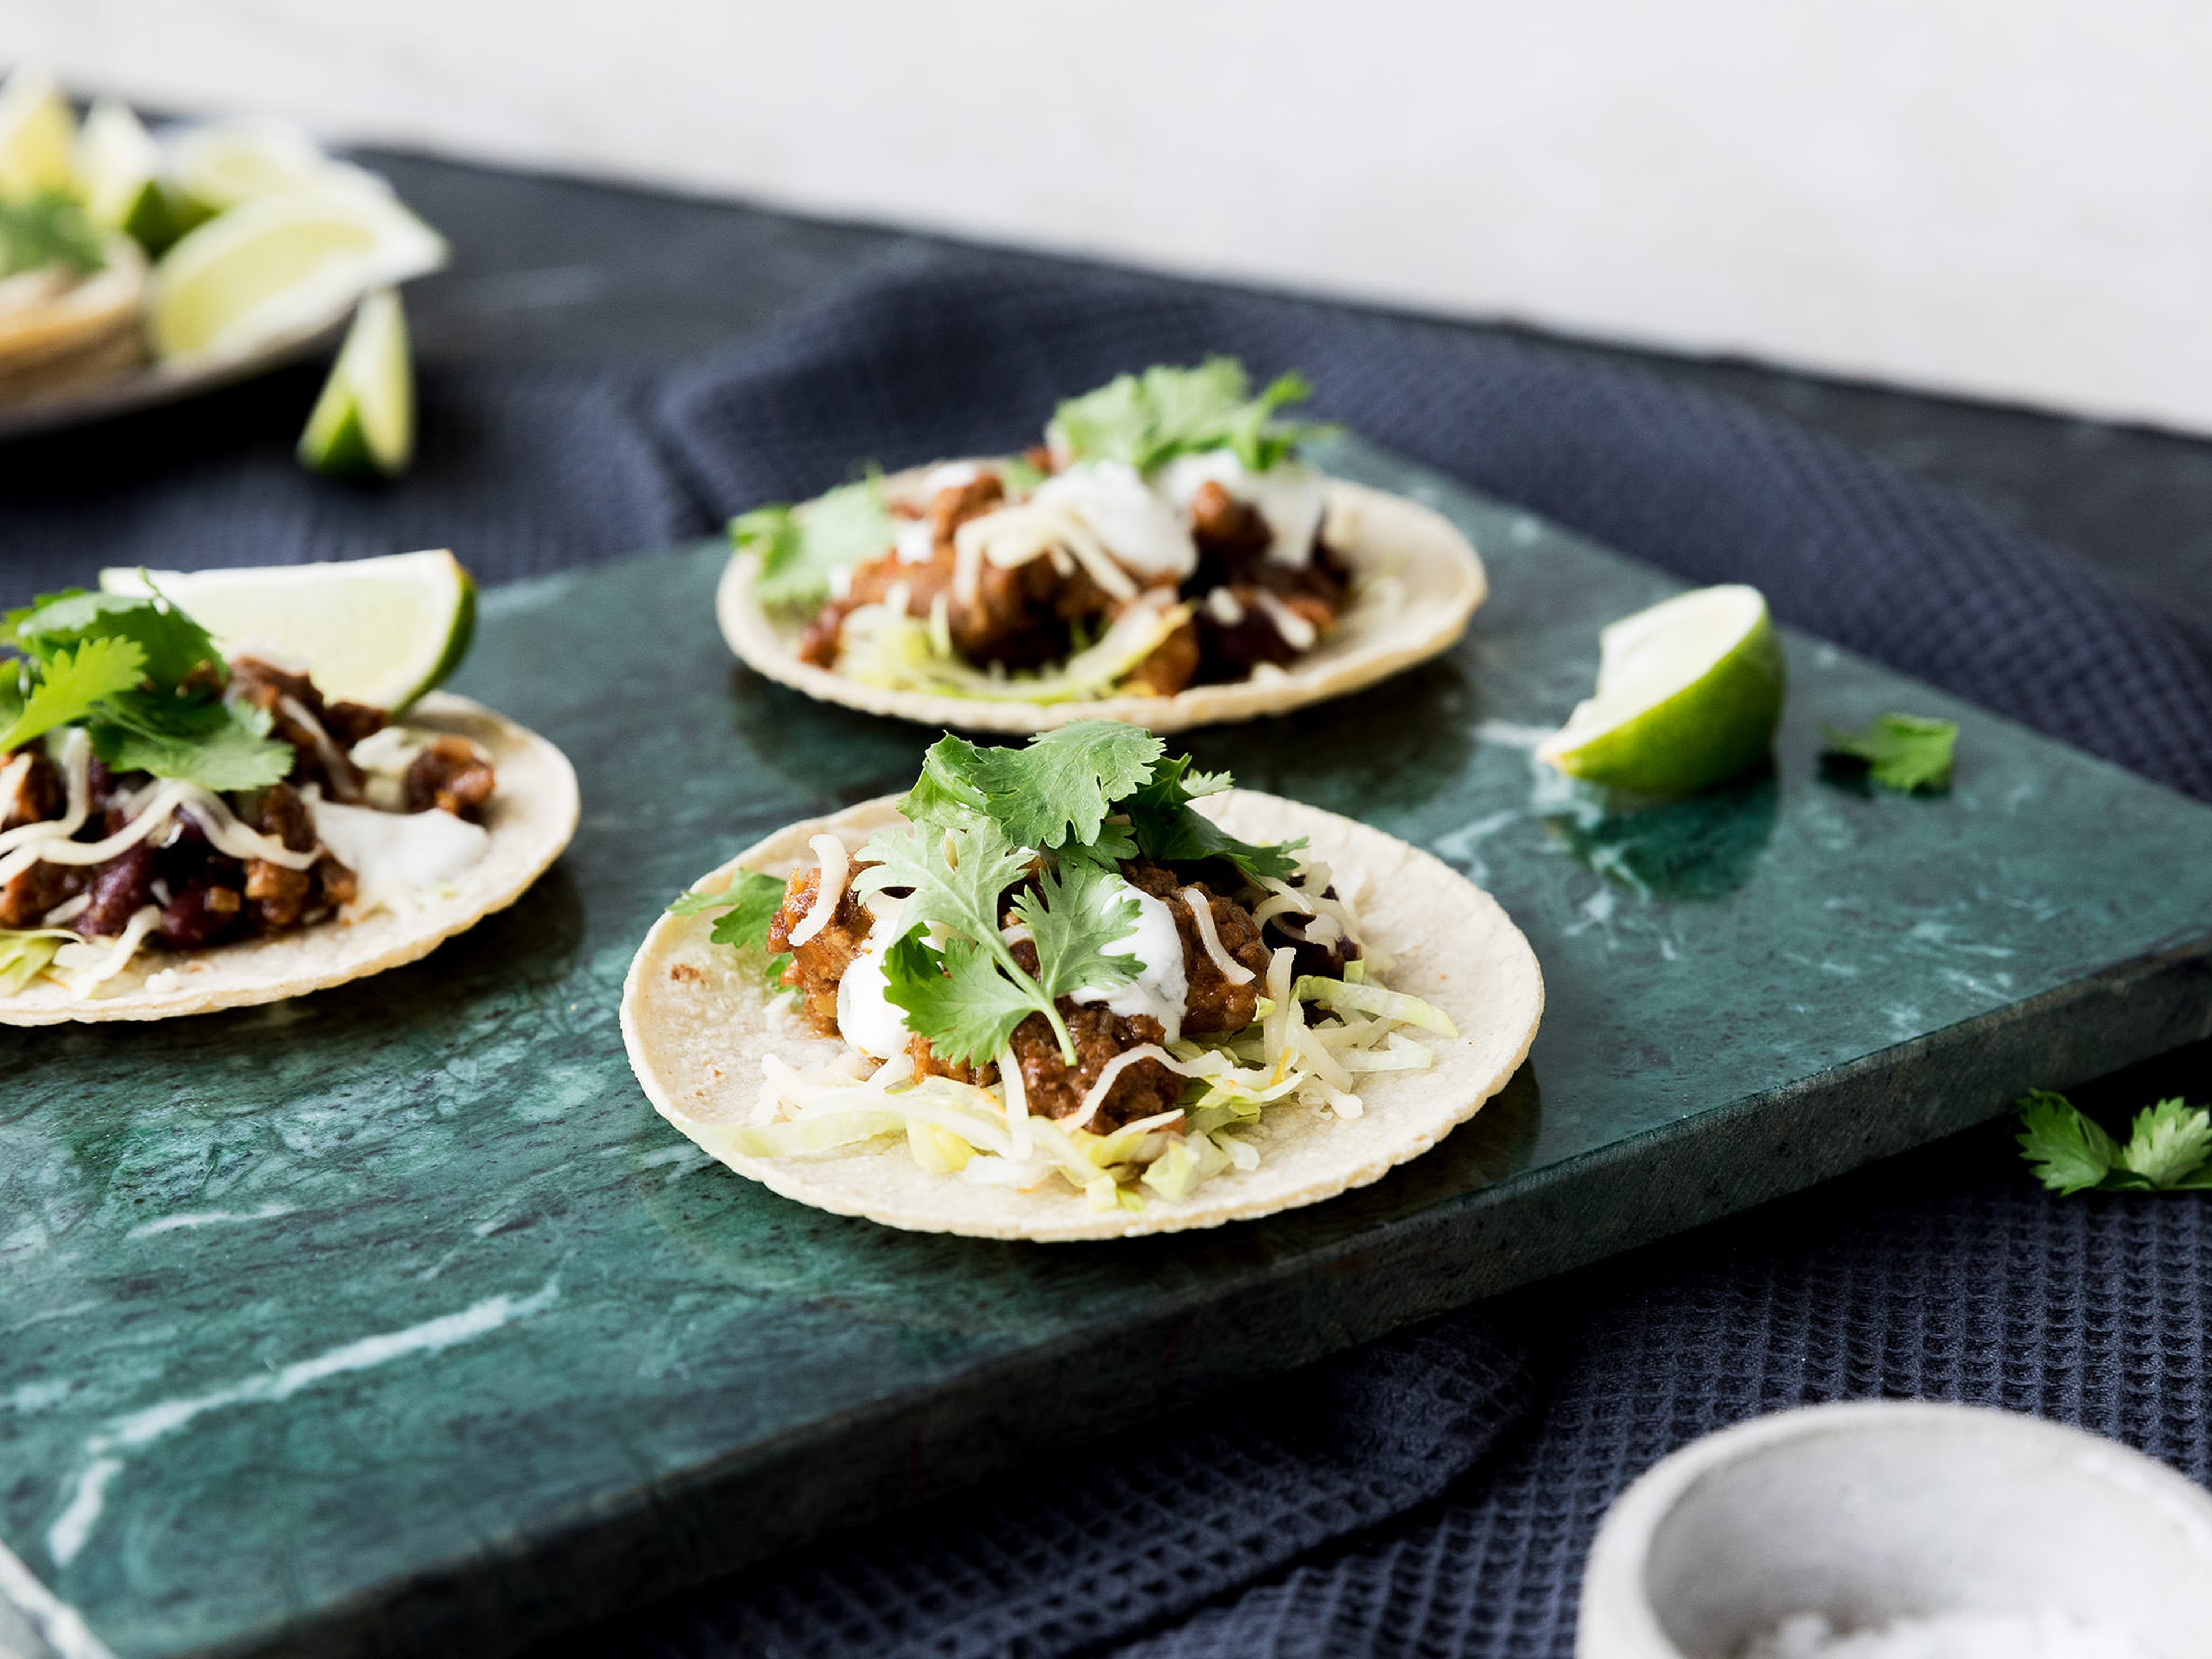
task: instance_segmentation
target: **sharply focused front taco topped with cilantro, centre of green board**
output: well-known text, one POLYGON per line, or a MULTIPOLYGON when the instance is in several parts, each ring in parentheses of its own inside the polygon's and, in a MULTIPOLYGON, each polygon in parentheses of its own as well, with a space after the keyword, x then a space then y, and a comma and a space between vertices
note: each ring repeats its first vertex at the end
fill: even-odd
POLYGON ((1498 902, 1133 726, 945 737, 902 799, 796 823, 655 922, 622 1029, 741 1175, 1002 1239, 1206 1228, 1431 1148, 1544 982, 1498 902))

